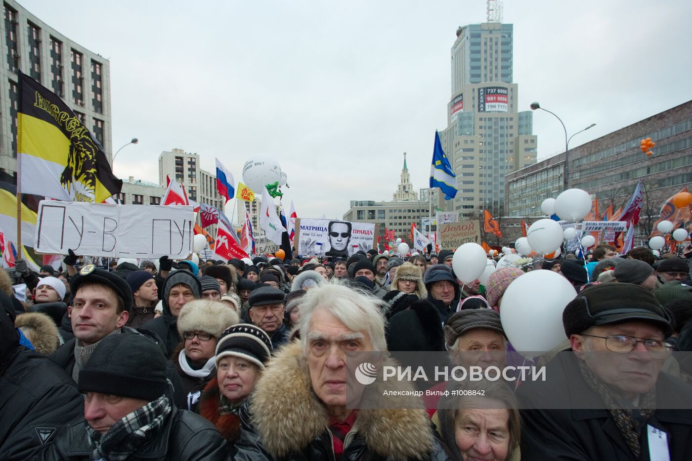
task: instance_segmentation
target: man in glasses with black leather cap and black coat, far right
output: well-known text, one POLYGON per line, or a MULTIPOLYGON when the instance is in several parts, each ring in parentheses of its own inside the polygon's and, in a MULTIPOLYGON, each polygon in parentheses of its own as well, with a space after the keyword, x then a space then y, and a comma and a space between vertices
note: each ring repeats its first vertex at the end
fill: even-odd
POLYGON ((607 283, 563 311, 572 352, 527 380, 522 460, 689 459, 692 387, 661 372, 671 318, 648 289, 607 283))

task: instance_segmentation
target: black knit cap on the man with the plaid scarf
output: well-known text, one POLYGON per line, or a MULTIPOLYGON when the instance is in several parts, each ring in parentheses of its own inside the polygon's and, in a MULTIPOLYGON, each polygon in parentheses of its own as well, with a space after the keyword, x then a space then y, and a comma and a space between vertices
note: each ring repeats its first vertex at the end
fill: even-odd
POLYGON ((100 392, 152 401, 165 394, 166 358, 143 334, 121 333, 103 338, 80 370, 80 392, 100 392))

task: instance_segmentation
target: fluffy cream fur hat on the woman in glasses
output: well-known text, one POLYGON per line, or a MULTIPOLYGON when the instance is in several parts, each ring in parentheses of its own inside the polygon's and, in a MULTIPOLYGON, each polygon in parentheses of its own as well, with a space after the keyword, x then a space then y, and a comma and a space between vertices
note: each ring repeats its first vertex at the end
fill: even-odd
POLYGON ((235 325, 238 321, 237 312, 223 302, 200 299, 190 301, 183 306, 178 315, 177 326, 181 338, 183 333, 194 330, 207 332, 215 338, 220 338, 226 328, 235 325))

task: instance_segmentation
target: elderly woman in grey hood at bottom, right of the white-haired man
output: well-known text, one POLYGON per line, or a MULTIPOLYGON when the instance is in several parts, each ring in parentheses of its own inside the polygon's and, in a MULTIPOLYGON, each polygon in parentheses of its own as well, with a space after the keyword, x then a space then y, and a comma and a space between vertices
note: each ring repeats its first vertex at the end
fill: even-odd
POLYGON ((520 459, 521 418, 507 384, 451 381, 447 390, 437 413, 442 441, 454 460, 520 459))

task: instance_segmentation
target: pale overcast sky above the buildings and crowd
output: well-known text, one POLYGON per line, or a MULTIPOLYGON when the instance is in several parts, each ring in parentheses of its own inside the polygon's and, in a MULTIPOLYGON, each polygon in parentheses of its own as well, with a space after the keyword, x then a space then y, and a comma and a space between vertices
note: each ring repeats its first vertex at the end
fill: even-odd
MULTIPOLYGON (((158 182, 158 155, 181 147, 242 181, 266 154, 288 175, 286 210, 316 218, 392 199, 405 151, 427 186, 455 32, 486 21, 481 0, 20 3, 110 60, 113 151, 140 140, 119 177, 158 182)), ((692 99, 691 18, 689 0, 504 1, 520 107, 539 101, 570 135, 597 123, 576 147, 692 99)), ((534 134, 539 159, 564 150, 550 114, 534 134)))

